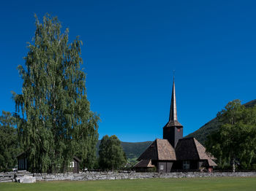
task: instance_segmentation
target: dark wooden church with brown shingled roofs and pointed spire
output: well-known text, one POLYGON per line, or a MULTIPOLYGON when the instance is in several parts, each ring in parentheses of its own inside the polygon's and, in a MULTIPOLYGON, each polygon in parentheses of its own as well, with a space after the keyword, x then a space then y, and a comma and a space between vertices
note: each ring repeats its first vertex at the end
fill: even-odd
POLYGON ((195 138, 183 138, 183 126, 178 122, 176 92, 173 79, 173 93, 169 121, 163 128, 163 139, 156 139, 138 157, 136 171, 157 168, 159 173, 170 171, 213 171, 214 157, 195 138))

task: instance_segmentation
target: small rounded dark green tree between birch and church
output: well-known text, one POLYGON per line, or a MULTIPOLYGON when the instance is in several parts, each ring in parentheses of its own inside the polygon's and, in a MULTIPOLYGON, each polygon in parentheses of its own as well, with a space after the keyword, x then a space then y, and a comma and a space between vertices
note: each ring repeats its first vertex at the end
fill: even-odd
POLYGON ((126 163, 127 158, 117 136, 104 136, 99 145, 99 167, 113 171, 126 163))

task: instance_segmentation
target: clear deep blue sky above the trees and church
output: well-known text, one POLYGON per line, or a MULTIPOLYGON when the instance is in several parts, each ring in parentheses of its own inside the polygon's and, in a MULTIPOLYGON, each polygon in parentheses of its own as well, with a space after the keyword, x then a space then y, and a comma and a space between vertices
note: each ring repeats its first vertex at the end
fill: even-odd
POLYGON ((162 138, 176 70, 184 135, 228 101, 256 98, 255 1, 1 1, 0 109, 15 112, 17 71, 34 36, 34 13, 58 16, 69 39, 80 36, 99 139, 162 138))

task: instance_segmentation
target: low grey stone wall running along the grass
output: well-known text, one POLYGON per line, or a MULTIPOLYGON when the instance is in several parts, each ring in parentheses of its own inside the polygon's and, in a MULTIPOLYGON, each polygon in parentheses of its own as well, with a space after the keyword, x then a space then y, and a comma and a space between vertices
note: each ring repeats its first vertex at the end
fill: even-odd
POLYGON ((138 173, 138 172, 83 172, 79 174, 31 174, 27 171, 0 173, 0 182, 17 182, 20 177, 34 176, 37 181, 86 181, 86 180, 115 180, 115 179, 153 179, 153 178, 195 178, 195 177, 247 177, 256 176, 256 172, 172 172, 172 173, 138 173))

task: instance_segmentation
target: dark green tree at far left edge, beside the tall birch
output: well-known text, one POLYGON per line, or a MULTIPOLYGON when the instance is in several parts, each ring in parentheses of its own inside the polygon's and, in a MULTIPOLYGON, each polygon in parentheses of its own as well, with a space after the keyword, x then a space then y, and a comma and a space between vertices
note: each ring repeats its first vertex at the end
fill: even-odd
POLYGON ((20 152, 15 117, 10 112, 2 112, 0 117, 0 171, 7 171, 16 165, 16 155, 20 152))

